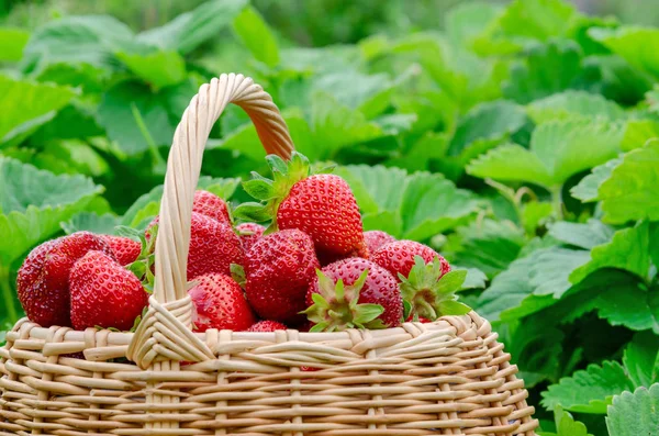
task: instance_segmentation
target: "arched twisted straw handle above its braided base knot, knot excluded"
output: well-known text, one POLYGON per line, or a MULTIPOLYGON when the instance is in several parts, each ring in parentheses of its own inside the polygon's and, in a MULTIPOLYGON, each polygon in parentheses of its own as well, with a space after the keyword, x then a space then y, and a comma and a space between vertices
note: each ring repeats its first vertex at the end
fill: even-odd
POLYGON ((209 134, 228 103, 243 108, 268 154, 289 158, 293 143, 272 98, 249 77, 222 75, 203 85, 176 128, 167 160, 156 241, 154 297, 171 303, 188 295, 187 266, 192 199, 209 134))

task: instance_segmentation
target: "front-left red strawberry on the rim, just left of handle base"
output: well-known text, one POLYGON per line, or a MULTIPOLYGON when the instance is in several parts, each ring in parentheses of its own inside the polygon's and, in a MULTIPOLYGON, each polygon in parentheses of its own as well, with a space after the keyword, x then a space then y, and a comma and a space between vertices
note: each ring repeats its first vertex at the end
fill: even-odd
POLYGON ((134 273, 101 251, 89 251, 69 276, 76 329, 101 326, 129 331, 148 302, 134 273))

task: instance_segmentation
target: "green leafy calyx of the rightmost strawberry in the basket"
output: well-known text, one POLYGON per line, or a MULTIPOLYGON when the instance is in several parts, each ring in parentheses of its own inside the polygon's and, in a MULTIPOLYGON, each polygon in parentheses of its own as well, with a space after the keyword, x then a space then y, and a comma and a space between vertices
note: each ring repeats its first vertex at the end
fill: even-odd
POLYGON ((405 320, 435 321, 445 315, 463 315, 471 311, 457 301, 467 277, 466 270, 454 270, 442 275, 442 262, 436 257, 426 264, 421 256, 414 256, 414 266, 407 277, 399 273, 400 289, 405 302, 405 320))

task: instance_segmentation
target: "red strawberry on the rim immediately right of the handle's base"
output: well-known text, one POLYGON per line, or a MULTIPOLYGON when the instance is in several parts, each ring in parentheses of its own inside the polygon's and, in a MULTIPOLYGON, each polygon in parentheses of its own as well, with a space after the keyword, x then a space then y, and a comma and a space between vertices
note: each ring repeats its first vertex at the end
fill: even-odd
POLYGON ((194 303, 192 323, 196 332, 209 328, 241 332, 256 322, 243 290, 231 277, 210 273, 199 276, 194 281, 198 284, 188 293, 194 303))

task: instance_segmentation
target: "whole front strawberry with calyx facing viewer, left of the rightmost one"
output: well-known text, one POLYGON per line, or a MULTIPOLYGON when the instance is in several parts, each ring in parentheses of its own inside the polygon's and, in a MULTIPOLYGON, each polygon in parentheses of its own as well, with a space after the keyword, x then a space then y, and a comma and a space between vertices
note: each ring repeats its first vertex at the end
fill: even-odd
POLYGON ((306 293, 304 313, 312 332, 382 328, 400 324, 403 302, 398 282, 370 260, 350 258, 327 265, 306 293))

